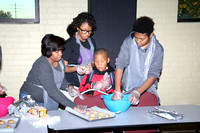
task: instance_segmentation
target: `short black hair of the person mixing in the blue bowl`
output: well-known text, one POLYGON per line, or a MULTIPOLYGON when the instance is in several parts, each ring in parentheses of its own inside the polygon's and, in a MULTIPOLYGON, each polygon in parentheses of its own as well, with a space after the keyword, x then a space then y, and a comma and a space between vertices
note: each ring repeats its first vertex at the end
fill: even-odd
POLYGON ((135 20, 133 24, 133 31, 139 33, 146 33, 147 36, 154 31, 154 21, 150 17, 143 16, 135 20))

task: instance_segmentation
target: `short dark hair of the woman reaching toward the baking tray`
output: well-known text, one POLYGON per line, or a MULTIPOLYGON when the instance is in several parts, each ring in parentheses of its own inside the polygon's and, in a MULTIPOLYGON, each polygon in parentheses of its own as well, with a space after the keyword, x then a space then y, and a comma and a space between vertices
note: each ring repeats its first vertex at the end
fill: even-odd
POLYGON ((53 34, 45 35, 41 43, 42 55, 46 56, 47 58, 51 57, 53 51, 65 49, 65 40, 53 34))

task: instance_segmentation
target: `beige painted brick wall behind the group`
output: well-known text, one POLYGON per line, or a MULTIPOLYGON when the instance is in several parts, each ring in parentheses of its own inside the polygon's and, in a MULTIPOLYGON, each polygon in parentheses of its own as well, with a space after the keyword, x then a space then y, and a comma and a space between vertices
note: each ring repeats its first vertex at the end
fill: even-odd
MULTIPOLYGON (((155 34, 165 49, 158 84, 162 105, 200 104, 200 23, 177 23, 178 0, 138 0, 137 17, 155 21, 155 34)), ((47 33, 68 38, 67 25, 87 11, 87 0, 40 0, 39 24, 0 24, 3 64, 0 81, 18 99, 19 88, 40 56, 47 33)))

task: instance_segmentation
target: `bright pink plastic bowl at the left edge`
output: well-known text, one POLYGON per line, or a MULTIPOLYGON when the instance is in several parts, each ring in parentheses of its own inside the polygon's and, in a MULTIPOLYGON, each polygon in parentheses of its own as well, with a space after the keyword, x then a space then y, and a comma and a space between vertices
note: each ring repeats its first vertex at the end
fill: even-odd
POLYGON ((13 97, 0 98, 0 117, 8 114, 8 106, 13 104, 15 99, 13 97))

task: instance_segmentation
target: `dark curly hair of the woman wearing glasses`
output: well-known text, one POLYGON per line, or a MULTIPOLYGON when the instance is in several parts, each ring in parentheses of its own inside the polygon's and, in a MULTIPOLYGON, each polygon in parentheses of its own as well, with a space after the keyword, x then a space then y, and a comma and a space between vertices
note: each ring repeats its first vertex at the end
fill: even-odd
POLYGON ((80 27, 81 24, 85 22, 87 22, 92 27, 92 31, 96 30, 96 20, 94 16, 91 13, 82 12, 78 14, 77 17, 73 18, 72 23, 68 25, 67 33, 69 36, 73 36, 74 33, 77 32, 77 27, 80 27))

